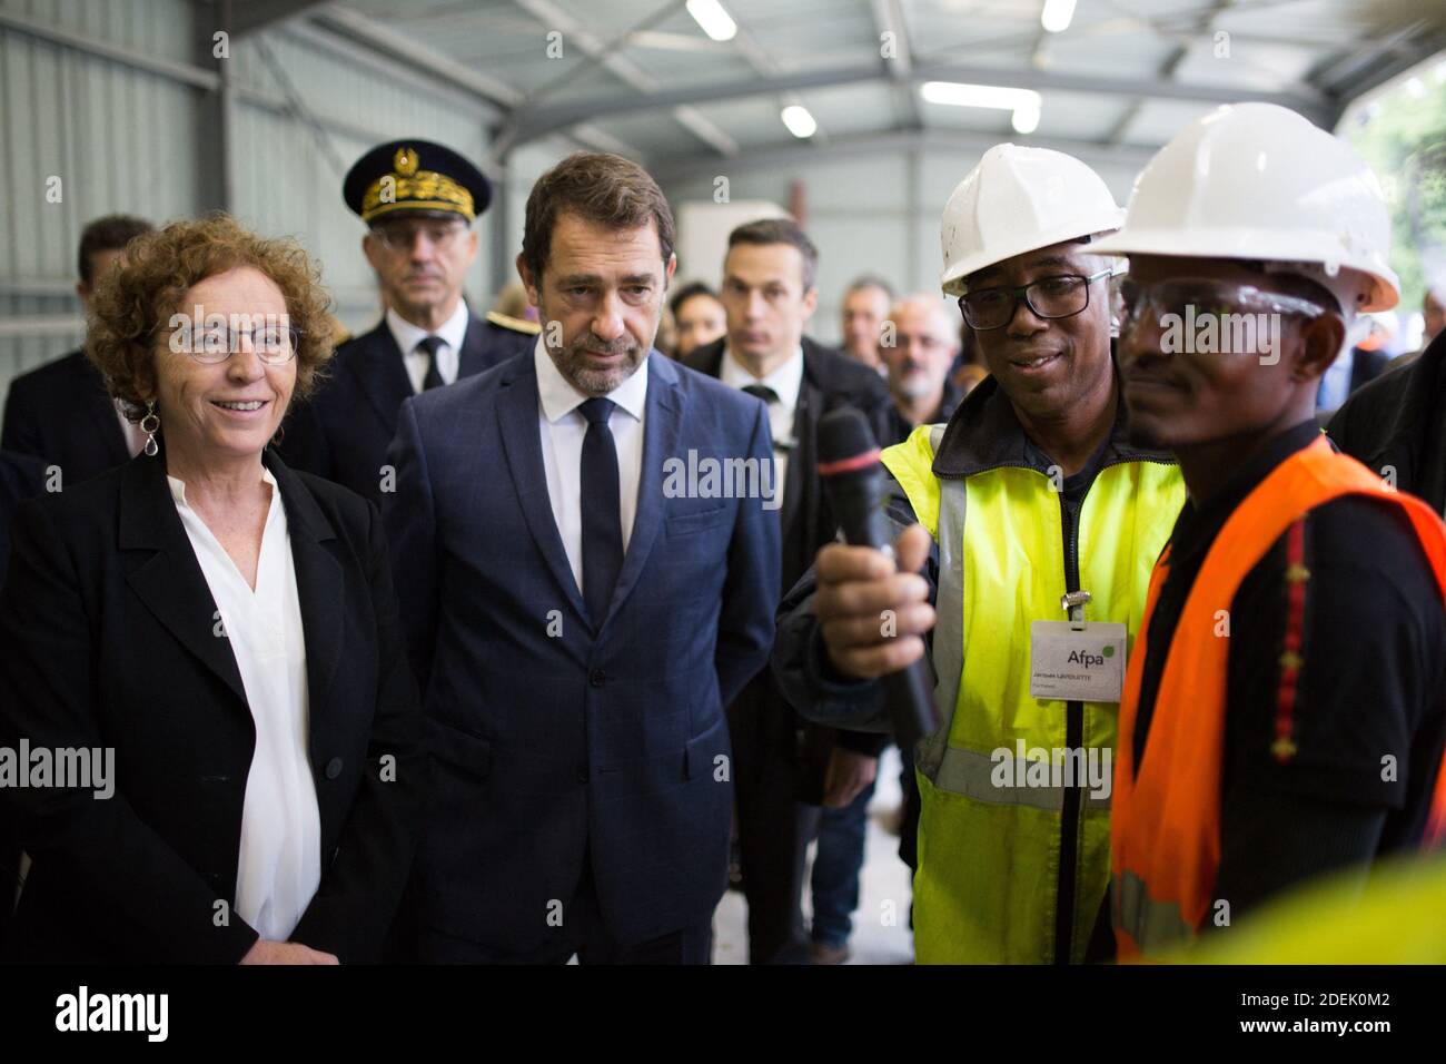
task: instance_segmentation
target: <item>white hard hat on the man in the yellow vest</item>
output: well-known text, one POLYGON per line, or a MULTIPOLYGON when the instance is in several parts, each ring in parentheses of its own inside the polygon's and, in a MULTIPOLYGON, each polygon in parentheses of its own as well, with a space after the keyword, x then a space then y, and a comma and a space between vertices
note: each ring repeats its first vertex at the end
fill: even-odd
POLYGON ((944 204, 947 295, 1015 255, 1119 229, 1125 211, 1099 174, 1063 152, 995 145, 944 204))

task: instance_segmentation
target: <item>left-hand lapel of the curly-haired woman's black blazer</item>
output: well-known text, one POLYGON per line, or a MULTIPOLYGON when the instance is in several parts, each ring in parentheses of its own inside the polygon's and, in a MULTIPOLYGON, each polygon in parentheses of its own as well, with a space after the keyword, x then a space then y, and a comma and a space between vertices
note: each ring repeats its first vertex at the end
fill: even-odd
POLYGON ((166 485, 165 456, 132 459, 120 486, 120 549, 136 552, 126 579, 156 620, 247 706, 231 643, 217 636, 215 599, 166 485))

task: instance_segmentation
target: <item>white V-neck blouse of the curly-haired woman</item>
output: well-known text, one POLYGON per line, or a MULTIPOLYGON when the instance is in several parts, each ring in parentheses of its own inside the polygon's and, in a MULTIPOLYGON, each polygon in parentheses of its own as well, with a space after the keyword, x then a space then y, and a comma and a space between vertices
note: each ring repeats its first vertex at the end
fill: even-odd
POLYGON ((187 504, 185 484, 166 478, 231 640, 256 724, 241 806, 236 915, 262 938, 285 942, 321 883, 321 811, 307 751, 307 643, 286 508, 269 469, 262 468, 262 479, 272 498, 252 591, 226 547, 187 504))

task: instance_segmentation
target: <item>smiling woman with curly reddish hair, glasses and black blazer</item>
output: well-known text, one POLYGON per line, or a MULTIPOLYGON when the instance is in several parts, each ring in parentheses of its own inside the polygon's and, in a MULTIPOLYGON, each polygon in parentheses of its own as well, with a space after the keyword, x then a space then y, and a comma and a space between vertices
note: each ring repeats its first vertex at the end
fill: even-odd
POLYGON ((327 303, 296 245, 224 216, 137 239, 95 295, 87 355, 146 446, 16 517, 12 958, 382 953, 425 782, 382 524, 268 446, 327 303))

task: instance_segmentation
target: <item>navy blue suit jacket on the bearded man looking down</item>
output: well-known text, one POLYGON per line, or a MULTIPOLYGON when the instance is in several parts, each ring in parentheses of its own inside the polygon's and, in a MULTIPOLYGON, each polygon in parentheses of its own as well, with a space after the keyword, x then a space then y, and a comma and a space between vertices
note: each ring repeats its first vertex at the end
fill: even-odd
POLYGON ((779 533, 756 498, 674 497, 665 463, 690 452, 769 460, 766 408, 654 350, 638 512, 599 620, 552 518, 534 355, 402 405, 383 505, 434 757, 424 942, 555 950, 549 906, 565 922, 584 860, 625 945, 717 905, 723 706, 774 641, 779 533))

